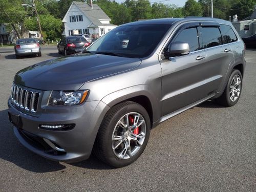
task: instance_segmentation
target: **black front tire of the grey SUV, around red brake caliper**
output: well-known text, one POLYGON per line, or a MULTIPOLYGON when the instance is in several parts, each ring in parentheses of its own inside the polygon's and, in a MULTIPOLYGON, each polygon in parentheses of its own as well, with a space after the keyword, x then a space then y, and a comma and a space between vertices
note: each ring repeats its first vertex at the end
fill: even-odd
MULTIPOLYGON (((121 127, 121 129, 123 128, 121 127)), ((143 153, 146 147, 147 141, 150 137, 150 130, 151 130, 150 117, 148 116, 143 106, 132 101, 126 101, 126 102, 117 104, 105 115, 94 143, 93 152, 96 155, 96 157, 98 157, 98 159, 100 159, 101 161, 113 167, 123 167, 123 166, 129 165, 133 163, 136 159, 138 159, 140 155, 143 153), (141 122, 145 122, 143 123, 143 125, 141 125, 143 126, 143 130, 145 130, 145 134, 143 137, 144 140, 142 141, 141 145, 135 145, 135 146, 132 146, 132 142, 129 141, 130 155, 131 155, 131 150, 134 150, 136 147, 138 148, 138 150, 136 148, 137 151, 136 150, 134 151, 136 153, 129 156, 129 159, 120 159, 114 153, 115 150, 112 148, 112 145, 113 145, 112 135, 114 134, 114 130, 116 129, 115 127, 118 126, 117 123, 119 122, 119 120, 122 119, 122 117, 132 112, 140 114, 141 115, 140 118, 143 118, 144 120, 141 122)), ((126 132, 128 131, 126 130, 126 132)), ((125 133, 123 135, 125 135, 125 133)), ((130 133, 134 133, 134 132, 130 132, 130 133)), ((137 133, 137 135, 140 135, 140 133, 137 133)))

